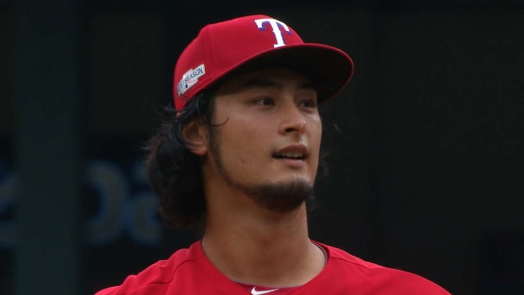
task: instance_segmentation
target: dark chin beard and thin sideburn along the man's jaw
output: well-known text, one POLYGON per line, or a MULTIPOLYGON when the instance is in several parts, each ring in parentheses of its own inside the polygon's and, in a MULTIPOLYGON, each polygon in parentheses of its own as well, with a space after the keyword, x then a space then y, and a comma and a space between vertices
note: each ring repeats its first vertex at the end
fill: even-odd
POLYGON ((220 131, 217 128, 212 127, 209 130, 210 153, 219 173, 228 185, 243 191, 259 207, 276 213, 288 213, 298 209, 308 199, 313 199, 313 185, 302 178, 255 186, 235 183, 222 161, 219 133, 220 131))

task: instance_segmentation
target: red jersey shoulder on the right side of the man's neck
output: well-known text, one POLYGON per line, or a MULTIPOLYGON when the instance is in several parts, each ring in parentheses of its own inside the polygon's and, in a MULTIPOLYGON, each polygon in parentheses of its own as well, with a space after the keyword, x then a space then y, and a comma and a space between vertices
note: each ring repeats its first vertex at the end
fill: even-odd
MULTIPOLYGON (((359 286, 362 293, 370 294, 426 294, 449 295, 436 283, 414 273, 388 268, 365 261, 344 250, 322 245, 328 251, 329 272, 343 274, 359 286)), ((327 267, 326 267, 327 268, 327 267)))

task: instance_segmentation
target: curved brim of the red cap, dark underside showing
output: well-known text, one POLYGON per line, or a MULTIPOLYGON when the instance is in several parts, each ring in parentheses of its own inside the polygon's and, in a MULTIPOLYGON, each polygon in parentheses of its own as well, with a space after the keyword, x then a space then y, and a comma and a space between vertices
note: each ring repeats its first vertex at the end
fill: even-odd
POLYGON ((303 43, 258 52, 209 81, 204 88, 261 68, 289 68, 303 73, 315 86, 319 101, 335 96, 353 76, 353 61, 344 51, 323 44, 303 43))

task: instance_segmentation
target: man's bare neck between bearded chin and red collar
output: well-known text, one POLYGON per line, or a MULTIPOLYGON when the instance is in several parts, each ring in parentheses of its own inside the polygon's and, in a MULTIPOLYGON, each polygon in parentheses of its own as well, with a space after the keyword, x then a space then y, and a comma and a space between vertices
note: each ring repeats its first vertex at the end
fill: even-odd
MULTIPOLYGON (((322 251, 308 237, 305 204, 289 213, 233 208, 208 198, 208 219, 202 247, 226 277, 243 283, 300 286, 324 266, 322 251)), ((220 198, 215 198, 220 199, 220 198)))

